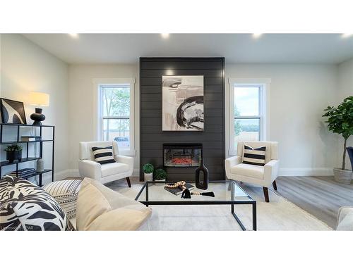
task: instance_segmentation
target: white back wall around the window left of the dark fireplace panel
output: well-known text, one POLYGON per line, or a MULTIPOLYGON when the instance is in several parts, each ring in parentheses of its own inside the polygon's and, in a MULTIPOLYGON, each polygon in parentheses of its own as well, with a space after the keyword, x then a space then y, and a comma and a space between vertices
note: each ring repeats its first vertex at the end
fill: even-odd
POLYGON ((97 87, 93 87, 93 79, 96 78, 136 78, 135 84, 135 149, 134 172, 138 175, 140 167, 140 96, 138 64, 104 64, 104 65, 69 65, 69 134, 70 134, 70 168, 73 173, 78 169, 78 142, 97 140, 95 120, 92 113, 94 106, 94 94, 97 87))

